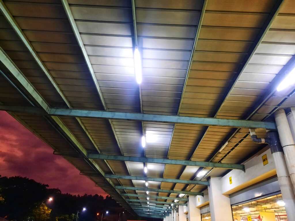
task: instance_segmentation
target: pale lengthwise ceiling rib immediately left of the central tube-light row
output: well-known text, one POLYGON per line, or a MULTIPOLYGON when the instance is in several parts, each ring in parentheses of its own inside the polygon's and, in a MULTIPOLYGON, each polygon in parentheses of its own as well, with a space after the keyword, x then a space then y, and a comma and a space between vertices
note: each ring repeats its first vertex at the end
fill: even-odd
MULTIPOLYGON (((101 103, 102 103, 102 105, 103 105, 103 107, 104 107, 104 110, 108 110, 107 107, 106 107, 106 103, 105 103, 104 97, 103 97, 103 95, 102 95, 102 93, 101 93, 101 89, 100 89, 100 87, 99 87, 99 83, 98 83, 98 81, 97 81, 97 79, 96 79, 96 76, 95 76, 95 74, 94 74, 94 70, 93 70, 93 68, 92 68, 91 62, 90 62, 89 57, 88 57, 88 54, 87 54, 87 52, 86 52, 85 46, 84 46, 84 44, 83 44, 83 41, 82 41, 82 38, 81 38, 80 32, 79 32, 78 27, 77 27, 77 24, 76 24, 76 22, 75 22, 75 19, 74 19, 74 17, 73 17, 72 12, 71 12, 70 6, 69 6, 69 4, 68 4, 68 1, 67 1, 67 0, 61 0, 61 2, 62 2, 62 4, 63 4, 63 8, 64 8, 64 10, 65 10, 65 13, 66 13, 67 17, 68 17, 68 20, 69 20, 69 22, 70 22, 70 25, 71 25, 71 27, 72 27, 72 30, 73 30, 74 35, 75 35, 75 37, 76 37, 76 40, 77 40, 77 42, 78 42, 78 45, 79 45, 79 47, 80 47, 80 49, 81 49, 82 55, 83 55, 83 57, 84 57, 84 60, 85 60, 85 62, 86 62, 86 65, 87 65, 87 67, 88 67, 88 70, 89 70, 89 72, 90 72, 90 75, 91 75, 91 78, 92 78, 92 80, 93 80, 93 83, 94 83, 94 85, 95 85, 95 87, 96 87, 96 90, 97 90, 97 92, 98 92, 98 94, 99 94, 99 98, 100 98, 101 103)), ((117 137, 116 131, 115 131, 115 129, 114 129, 114 126, 113 126, 112 120, 109 119, 108 121, 109 121, 109 123, 110 123, 110 127, 112 128, 112 131, 113 131, 114 137, 115 137, 115 139, 116 139, 117 145, 118 145, 118 147, 119 147, 119 149, 120 149, 120 153, 121 153, 121 155, 123 156, 123 151, 122 151, 122 148, 121 148, 121 145, 120 145, 119 139, 118 139, 118 137, 117 137)), ((126 162, 124 162, 124 163, 125 163, 125 165, 126 165, 126 168, 127 168, 128 173, 130 174, 130 171, 129 171, 129 169, 128 169, 128 166, 127 166, 126 162)), ((106 164, 108 164, 108 163, 106 162, 106 164)), ((109 164, 108 164, 108 165, 109 165, 109 164)), ((109 166, 109 168, 112 170, 111 166, 109 166)))

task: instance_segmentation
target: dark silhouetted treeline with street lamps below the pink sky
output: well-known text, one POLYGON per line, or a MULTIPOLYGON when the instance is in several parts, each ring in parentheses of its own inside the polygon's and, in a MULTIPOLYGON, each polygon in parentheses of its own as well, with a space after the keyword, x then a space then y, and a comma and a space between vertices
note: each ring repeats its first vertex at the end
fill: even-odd
POLYGON ((63 194, 26 177, 0 176, 0 217, 16 221, 73 221, 78 211, 79 221, 101 221, 102 214, 104 221, 119 221, 119 215, 120 221, 135 219, 109 196, 63 194), (48 200, 50 197, 52 201, 48 200), (86 211, 82 211, 83 207, 86 211))

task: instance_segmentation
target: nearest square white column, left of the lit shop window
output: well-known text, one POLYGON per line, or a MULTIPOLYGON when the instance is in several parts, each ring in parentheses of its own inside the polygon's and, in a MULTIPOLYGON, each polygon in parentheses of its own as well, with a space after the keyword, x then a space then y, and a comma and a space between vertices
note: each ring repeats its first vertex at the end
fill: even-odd
POLYGON ((223 195, 221 191, 221 177, 211 177, 208 187, 210 213, 212 221, 233 221, 232 207, 229 195, 223 195))

